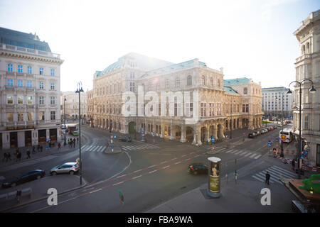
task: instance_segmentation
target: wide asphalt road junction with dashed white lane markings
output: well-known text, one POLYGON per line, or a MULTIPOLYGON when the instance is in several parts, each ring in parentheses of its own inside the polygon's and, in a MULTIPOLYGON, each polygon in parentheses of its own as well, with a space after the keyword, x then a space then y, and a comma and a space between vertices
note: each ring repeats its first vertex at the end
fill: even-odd
MULTIPOLYGON (((110 139, 109 133, 90 128, 85 128, 83 133, 88 145, 105 145, 110 139)), ((223 160, 220 175, 228 173, 233 176, 235 170, 252 165, 265 155, 269 150, 267 141, 274 141, 278 135, 279 129, 237 145, 233 149, 236 152, 215 155, 208 155, 206 146, 197 147, 178 141, 123 143, 126 151, 112 155, 85 151, 82 155, 82 173, 89 183, 87 187, 58 196, 58 206, 48 206, 46 201, 39 201, 11 212, 143 212, 206 183, 206 175, 188 174, 187 167, 192 162, 206 163, 208 157, 220 157, 223 160), (143 150, 139 149, 142 145, 143 150), (146 145, 158 148, 148 149, 146 145), (252 155, 237 155, 243 152, 252 155), (120 204, 119 191, 124 194, 124 205, 120 204)), ((77 151, 71 152, 38 163, 37 167, 47 171, 56 163, 75 160, 76 157, 77 151)))

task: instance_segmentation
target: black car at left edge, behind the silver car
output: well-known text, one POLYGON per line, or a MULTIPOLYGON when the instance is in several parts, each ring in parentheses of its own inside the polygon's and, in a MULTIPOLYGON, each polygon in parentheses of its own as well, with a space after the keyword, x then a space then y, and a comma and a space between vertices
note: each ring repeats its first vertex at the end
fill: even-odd
POLYGON ((23 184, 30 182, 34 179, 39 179, 46 176, 44 170, 32 170, 29 172, 23 172, 20 176, 14 177, 2 183, 2 187, 16 187, 17 184, 23 184))

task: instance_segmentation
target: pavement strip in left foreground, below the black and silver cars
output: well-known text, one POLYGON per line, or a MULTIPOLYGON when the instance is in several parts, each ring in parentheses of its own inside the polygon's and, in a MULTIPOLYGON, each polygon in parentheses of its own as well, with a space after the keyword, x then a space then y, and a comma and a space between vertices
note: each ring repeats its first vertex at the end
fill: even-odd
POLYGON ((46 177, 41 179, 36 179, 32 182, 28 182, 25 184, 20 184, 14 188, 1 189, 1 194, 6 194, 10 192, 16 192, 17 189, 27 189, 31 188, 30 194, 22 194, 21 201, 15 199, 16 195, 9 196, 8 199, 0 200, 0 212, 8 211, 9 209, 16 208, 18 206, 24 206, 26 204, 31 204, 36 201, 40 201, 43 199, 48 199, 48 189, 54 188, 57 189, 58 195, 64 194, 66 192, 73 191, 75 189, 80 189, 87 185, 85 179, 82 177, 82 185, 80 185, 80 179, 78 175, 55 175, 50 176, 48 173, 46 177))

